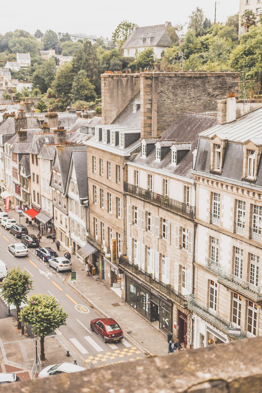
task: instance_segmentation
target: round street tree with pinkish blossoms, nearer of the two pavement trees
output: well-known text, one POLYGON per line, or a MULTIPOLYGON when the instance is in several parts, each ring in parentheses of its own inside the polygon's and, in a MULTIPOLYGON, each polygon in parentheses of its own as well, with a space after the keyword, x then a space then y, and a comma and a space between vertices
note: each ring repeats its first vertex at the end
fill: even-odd
POLYGON ((28 306, 21 310, 21 319, 33 326, 35 334, 40 336, 40 359, 45 360, 44 338, 55 329, 66 325, 68 314, 59 308, 59 303, 52 296, 33 295, 29 298, 28 306))

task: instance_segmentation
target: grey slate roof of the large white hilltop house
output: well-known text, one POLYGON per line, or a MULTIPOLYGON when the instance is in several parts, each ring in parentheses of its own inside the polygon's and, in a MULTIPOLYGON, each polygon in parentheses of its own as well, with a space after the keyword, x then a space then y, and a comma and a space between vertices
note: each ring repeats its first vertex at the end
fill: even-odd
POLYGON ((171 40, 167 34, 165 24, 155 26, 145 26, 135 28, 129 37, 122 45, 122 49, 127 48, 150 48, 152 46, 171 46, 171 40), (147 37, 151 40, 147 43, 147 37), (143 43, 140 44, 140 38, 143 38, 143 43))

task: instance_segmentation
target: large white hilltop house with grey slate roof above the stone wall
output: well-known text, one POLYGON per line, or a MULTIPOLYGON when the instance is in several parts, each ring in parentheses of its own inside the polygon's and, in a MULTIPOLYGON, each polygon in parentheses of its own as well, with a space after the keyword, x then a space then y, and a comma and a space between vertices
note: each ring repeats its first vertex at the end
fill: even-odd
POLYGON ((161 59, 163 50, 169 48, 172 42, 168 35, 171 22, 156 26, 135 26, 132 33, 122 45, 125 57, 136 57, 137 52, 153 48, 157 59, 161 59))

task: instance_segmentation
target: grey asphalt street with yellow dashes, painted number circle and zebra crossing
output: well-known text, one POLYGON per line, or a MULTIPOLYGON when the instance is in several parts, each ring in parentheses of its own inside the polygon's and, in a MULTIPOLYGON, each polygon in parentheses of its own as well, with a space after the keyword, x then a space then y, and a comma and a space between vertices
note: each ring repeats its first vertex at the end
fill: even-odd
MULTIPOLYGON (((12 216, 11 212, 10 215, 12 216)), ((29 296, 33 293, 42 293, 57 299, 68 313, 67 324, 61 326, 59 331, 82 354, 90 367, 134 361, 146 356, 128 340, 123 339, 121 343, 104 343, 95 332, 91 332, 90 321, 100 318, 100 315, 88 307, 84 299, 68 284, 66 285, 68 272, 57 273, 48 263, 35 255, 35 248, 29 248, 28 257, 14 257, 8 251, 8 245, 17 242, 20 242, 20 239, 15 239, 8 230, 0 226, 0 259, 5 262, 8 270, 20 266, 31 275, 34 288, 29 296)), ((59 256, 63 256, 63 253, 59 252, 59 256)))

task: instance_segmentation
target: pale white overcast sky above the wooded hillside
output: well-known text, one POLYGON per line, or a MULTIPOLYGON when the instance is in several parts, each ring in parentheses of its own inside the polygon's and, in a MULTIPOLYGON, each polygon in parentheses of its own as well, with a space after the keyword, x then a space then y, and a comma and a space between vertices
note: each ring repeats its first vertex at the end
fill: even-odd
MULTIPOLYGON (((228 15, 238 12, 240 0, 221 0, 217 4, 217 20, 225 22, 228 15)), ((1 2, 0 2, 1 3, 1 2)), ((122 20, 138 26, 163 24, 165 21, 184 24, 196 7, 203 8, 206 17, 214 21, 213 0, 12 0, 1 6, 0 33, 24 29, 34 34, 52 29, 56 32, 85 33, 111 38, 112 32, 122 20), (11 7, 11 8, 10 8, 11 7)))

